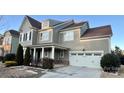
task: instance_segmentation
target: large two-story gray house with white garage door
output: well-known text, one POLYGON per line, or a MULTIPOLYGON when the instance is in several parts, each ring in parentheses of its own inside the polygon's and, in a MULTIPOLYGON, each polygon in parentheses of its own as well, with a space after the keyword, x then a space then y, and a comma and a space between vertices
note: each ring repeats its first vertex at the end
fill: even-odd
POLYGON ((47 19, 39 22, 25 16, 19 43, 31 48, 35 62, 44 57, 66 60, 73 66, 100 67, 103 54, 111 52, 110 25, 90 28, 88 22, 47 19))

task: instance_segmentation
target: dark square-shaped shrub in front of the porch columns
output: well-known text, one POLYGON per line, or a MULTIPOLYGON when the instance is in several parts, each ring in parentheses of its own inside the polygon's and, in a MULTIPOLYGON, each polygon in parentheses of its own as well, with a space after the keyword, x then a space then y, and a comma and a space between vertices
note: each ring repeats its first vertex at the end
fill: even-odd
POLYGON ((43 58, 42 68, 43 69, 53 69, 53 59, 43 58))

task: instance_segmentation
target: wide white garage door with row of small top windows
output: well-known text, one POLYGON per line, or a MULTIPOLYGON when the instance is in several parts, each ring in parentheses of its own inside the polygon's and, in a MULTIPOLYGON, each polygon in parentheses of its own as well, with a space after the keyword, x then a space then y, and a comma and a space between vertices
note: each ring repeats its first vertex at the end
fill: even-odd
POLYGON ((72 66, 100 68, 103 51, 70 51, 69 62, 72 66))

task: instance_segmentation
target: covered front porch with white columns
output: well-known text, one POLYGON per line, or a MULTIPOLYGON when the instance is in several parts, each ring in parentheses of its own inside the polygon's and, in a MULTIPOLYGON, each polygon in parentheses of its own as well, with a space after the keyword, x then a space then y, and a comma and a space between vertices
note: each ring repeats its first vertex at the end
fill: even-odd
POLYGON ((30 49, 32 56, 31 65, 41 63, 43 58, 53 59, 55 64, 69 64, 68 48, 52 45, 30 46, 30 49))

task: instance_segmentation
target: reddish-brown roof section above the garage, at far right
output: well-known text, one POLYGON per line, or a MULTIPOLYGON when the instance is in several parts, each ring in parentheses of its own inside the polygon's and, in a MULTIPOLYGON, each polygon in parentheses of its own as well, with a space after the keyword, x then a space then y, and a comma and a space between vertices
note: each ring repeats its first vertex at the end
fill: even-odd
POLYGON ((90 37, 100 37, 100 36, 111 36, 112 30, 110 25, 90 28, 81 36, 81 38, 90 38, 90 37))

